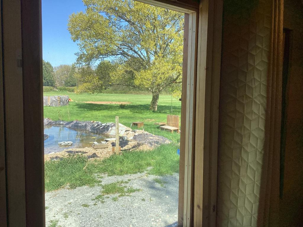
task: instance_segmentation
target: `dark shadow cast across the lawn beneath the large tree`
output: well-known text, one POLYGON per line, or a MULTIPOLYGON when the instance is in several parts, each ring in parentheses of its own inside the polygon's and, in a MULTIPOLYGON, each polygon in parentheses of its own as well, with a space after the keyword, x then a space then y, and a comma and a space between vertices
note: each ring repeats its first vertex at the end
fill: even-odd
MULTIPOLYGON (((121 109, 119 105, 115 104, 92 104, 92 103, 75 103, 76 108, 86 111, 118 111, 118 110, 129 110, 133 113, 142 113, 149 110, 149 104, 139 104, 139 105, 132 105, 127 104, 124 109, 121 109)), ((152 112, 152 111, 150 111, 152 112)), ((164 113, 164 114, 171 114, 171 106, 169 105, 158 105, 157 112, 153 113, 164 113)), ((181 114, 181 107, 174 107, 173 106, 173 113, 174 114, 181 114)))

